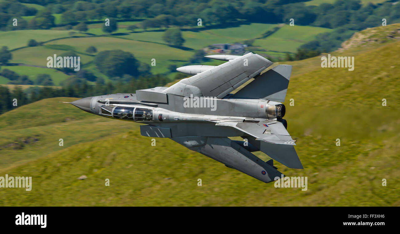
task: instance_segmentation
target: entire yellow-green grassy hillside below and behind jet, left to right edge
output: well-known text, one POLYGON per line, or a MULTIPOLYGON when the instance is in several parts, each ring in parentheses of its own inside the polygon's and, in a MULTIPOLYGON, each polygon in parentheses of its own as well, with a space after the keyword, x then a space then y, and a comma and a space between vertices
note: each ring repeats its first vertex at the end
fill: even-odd
POLYGON ((332 53, 355 56, 354 71, 321 68, 319 57, 292 62, 285 118, 305 169, 276 166, 287 176, 308 176, 305 192, 274 188, 169 139, 156 138, 151 146, 138 124, 93 116, 56 98, 0 116, 6 136, 0 145, 22 136, 49 145, 1 148, 6 166, 0 175, 32 176, 33 185, 30 192, 4 189, 0 205, 399 206, 399 50, 400 42, 392 42, 332 53), (372 58, 379 62, 371 65, 372 58), (64 148, 57 150, 61 136, 64 148), (30 150, 36 155, 24 156, 30 150), (86 180, 76 179, 83 174, 86 180))

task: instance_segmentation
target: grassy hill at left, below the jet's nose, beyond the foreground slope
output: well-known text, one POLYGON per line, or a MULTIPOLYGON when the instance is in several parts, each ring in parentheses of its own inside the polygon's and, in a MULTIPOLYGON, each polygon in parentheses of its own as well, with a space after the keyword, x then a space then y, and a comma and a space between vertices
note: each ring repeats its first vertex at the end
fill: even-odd
POLYGON ((0 115, 0 168, 138 128, 127 122, 86 115, 70 104, 58 102, 73 100, 76 98, 44 99, 0 115), (59 146, 60 138, 64 146, 59 146))

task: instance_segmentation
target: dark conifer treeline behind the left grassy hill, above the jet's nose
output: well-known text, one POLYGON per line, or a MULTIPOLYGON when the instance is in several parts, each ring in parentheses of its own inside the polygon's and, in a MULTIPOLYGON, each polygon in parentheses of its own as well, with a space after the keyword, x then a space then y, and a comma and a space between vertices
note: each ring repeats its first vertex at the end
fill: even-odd
MULTIPOLYGON (((41 76, 45 78, 45 76, 41 76)), ((170 82, 168 78, 161 75, 155 76, 142 76, 138 79, 131 79, 124 82, 122 79, 115 82, 107 82, 102 84, 97 82, 95 85, 89 85, 86 81, 81 83, 74 83, 62 88, 53 87, 30 87, 26 90, 22 90, 19 86, 16 86, 13 90, 10 90, 7 86, 0 85, 0 114, 22 106, 31 102, 36 102, 44 98, 54 97, 78 97, 84 98, 87 96, 98 96, 103 94, 111 94, 116 92, 123 93, 134 93, 136 90, 152 88, 156 86, 164 86, 170 82), (16 98, 18 106, 13 106, 13 99, 16 98)))

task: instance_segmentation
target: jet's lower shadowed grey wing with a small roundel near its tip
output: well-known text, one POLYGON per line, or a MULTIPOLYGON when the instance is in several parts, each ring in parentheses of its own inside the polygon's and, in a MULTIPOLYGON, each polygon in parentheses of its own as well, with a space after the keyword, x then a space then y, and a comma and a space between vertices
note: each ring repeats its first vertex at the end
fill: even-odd
POLYGON ((268 183, 282 176, 271 160, 264 162, 227 137, 184 136, 171 139, 262 182, 268 183))

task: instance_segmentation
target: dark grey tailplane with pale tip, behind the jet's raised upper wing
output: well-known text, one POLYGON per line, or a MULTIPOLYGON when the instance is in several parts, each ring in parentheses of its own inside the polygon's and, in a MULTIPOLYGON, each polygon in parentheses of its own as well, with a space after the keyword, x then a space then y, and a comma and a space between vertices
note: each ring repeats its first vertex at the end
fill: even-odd
POLYGON ((284 102, 292 65, 278 65, 255 78, 230 98, 259 99, 284 102))

